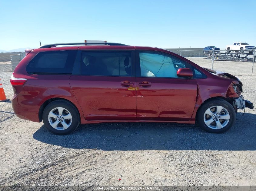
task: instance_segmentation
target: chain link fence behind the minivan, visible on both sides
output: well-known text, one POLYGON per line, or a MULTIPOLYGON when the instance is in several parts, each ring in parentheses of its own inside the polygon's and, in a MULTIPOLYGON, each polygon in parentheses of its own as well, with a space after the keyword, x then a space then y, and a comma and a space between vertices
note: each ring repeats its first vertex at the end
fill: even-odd
MULTIPOLYGON (((227 72, 235 76, 256 75, 256 51, 253 50, 171 50, 203 68, 227 72), (254 67, 254 68, 253 68, 254 67)), ((12 99, 13 89, 10 77, 14 68, 24 58, 24 52, 0 53, 0 78, 7 99, 12 99)), ((0 83, 1 84, 1 83, 0 83)), ((1 86, 0 86, 1 87, 1 86)), ((0 99, 1 100, 1 99, 0 99)), ((0 102, 0 121, 2 115, 13 113, 11 101, 0 102)))

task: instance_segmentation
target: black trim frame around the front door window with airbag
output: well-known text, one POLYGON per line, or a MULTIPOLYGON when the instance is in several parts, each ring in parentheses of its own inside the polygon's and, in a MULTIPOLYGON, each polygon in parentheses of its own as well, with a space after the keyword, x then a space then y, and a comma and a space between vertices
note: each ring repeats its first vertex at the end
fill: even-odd
MULTIPOLYGON (((192 78, 182 78, 182 77, 171 78, 171 77, 141 76, 140 55, 139 55, 140 52, 158 53, 158 54, 167 55, 167 56, 174 56, 172 54, 168 54, 168 53, 164 53, 164 52, 156 51, 156 50, 141 50, 141 49, 136 50, 136 52, 135 52, 135 54, 136 54, 136 78, 166 78, 166 79, 181 79, 181 80, 192 80, 192 79, 194 79, 194 76, 195 76, 194 72, 193 72, 193 77, 192 78)), ((178 58, 177 56, 174 56, 174 57, 176 57, 179 60, 182 60, 183 62, 186 62, 185 60, 183 60, 181 58, 178 58)), ((188 64, 190 66, 188 68, 190 68, 192 70, 192 65, 188 62, 186 62, 186 64, 188 64)))

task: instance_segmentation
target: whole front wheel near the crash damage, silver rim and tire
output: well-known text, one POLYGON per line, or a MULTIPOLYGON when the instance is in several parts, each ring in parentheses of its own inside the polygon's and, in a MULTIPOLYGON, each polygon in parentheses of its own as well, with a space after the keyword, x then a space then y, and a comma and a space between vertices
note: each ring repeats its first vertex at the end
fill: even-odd
POLYGON ((211 100, 202 105, 197 114, 199 126, 210 133, 228 131, 235 122, 235 110, 226 100, 211 100))

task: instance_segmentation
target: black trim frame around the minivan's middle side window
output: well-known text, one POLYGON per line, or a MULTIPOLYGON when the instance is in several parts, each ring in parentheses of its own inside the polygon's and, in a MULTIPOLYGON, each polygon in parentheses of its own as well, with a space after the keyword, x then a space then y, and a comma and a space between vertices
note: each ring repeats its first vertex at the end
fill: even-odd
POLYGON ((106 77, 136 77, 135 76, 135 50, 131 49, 90 49, 90 50, 78 50, 77 59, 75 61, 75 72, 72 75, 81 76, 106 76, 106 77), (81 74, 81 64, 82 64, 82 53, 83 52, 130 52, 131 53, 131 75, 130 76, 114 76, 114 75, 86 75, 81 74), (79 60, 79 61, 78 61, 79 60))

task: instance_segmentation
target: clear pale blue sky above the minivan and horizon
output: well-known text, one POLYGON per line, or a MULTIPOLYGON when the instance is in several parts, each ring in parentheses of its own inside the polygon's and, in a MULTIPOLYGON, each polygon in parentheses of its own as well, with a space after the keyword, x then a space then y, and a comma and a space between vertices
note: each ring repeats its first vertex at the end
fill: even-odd
POLYGON ((160 48, 256 46, 256 0, 0 0, 0 49, 107 40, 160 48))

